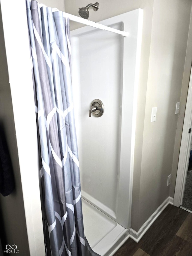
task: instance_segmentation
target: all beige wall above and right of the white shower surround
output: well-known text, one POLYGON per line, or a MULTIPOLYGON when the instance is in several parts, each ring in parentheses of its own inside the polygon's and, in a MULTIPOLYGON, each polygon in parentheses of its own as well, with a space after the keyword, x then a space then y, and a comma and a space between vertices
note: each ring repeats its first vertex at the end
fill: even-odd
MULTIPOLYGON (((78 8, 87 4, 82 0, 65 0, 65 11, 78 16, 78 8)), ((99 4, 97 12, 90 10, 90 20, 95 22, 137 8, 144 10, 131 215, 131 227, 138 231, 174 193, 176 167, 171 191, 170 186, 167 187, 167 176, 172 173, 175 140, 180 147, 181 128, 176 138, 176 102, 180 101, 183 80, 182 92, 186 94, 190 74, 191 56, 186 62, 185 56, 186 49, 190 53, 187 38, 191 0, 121 1, 120 4, 115 0, 101 0, 99 4), (153 123, 150 122, 152 107, 158 108, 153 123)), ((82 26, 70 24, 71 29, 82 26)), ((183 112, 180 116, 181 127, 183 112)))

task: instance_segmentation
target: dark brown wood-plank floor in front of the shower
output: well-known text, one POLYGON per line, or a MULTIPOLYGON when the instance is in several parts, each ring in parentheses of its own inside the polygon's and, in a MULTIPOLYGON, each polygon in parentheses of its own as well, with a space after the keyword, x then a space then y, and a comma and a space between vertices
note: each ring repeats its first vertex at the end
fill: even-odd
POLYGON ((129 238, 114 256, 192 256, 192 213, 168 205, 138 243, 129 238))

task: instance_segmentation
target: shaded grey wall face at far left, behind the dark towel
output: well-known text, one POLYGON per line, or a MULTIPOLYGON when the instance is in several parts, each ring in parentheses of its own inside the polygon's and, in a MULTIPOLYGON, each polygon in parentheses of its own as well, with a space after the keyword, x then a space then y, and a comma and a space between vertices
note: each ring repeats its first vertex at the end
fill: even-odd
POLYGON ((7 59, 5 53, 2 17, 0 10, 0 123, 6 132, 11 161, 14 169, 14 179, 16 190, 7 197, 0 194, 0 225, 1 240, 3 250, 5 245, 16 244, 22 248, 25 255, 29 255, 29 243, 27 239, 25 210, 22 196, 21 177, 18 161, 18 150, 16 145, 15 126, 13 117, 13 107, 10 94, 7 59), (22 237, 22 240, 19 239, 22 237), (5 243, 5 244, 4 244, 5 243))

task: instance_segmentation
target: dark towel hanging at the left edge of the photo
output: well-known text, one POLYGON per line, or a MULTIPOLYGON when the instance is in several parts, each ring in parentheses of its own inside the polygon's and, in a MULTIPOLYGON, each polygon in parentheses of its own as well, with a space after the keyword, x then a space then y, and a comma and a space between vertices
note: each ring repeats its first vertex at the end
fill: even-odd
POLYGON ((5 141, 4 131, 0 129, 0 193, 8 196, 15 188, 13 168, 5 141))

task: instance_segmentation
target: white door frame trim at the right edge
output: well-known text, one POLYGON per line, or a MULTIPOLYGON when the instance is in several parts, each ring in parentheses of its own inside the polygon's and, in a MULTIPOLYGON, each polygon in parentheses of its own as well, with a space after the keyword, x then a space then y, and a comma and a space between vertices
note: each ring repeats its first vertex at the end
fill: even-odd
POLYGON ((192 72, 190 73, 189 89, 187 94, 187 103, 184 115, 184 124, 182 131, 181 147, 179 152, 179 163, 177 169, 177 178, 175 186, 175 194, 173 205, 181 206, 184 195, 185 182, 187 178, 187 169, 190 156, 190 146, 192 132, 189 129, 192 127, 192 72))

